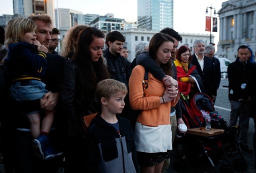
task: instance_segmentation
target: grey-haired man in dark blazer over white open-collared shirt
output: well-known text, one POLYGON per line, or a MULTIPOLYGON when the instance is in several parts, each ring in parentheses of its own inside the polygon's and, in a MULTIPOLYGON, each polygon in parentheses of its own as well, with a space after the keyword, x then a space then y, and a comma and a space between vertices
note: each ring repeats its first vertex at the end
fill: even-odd
POLYGON ((197 72, 199 73, 204 91, 211 98, 216 99, 217 88, 214 85, 216 75, 214 74, 214 68, 212 60, 204 55, 205 43, 202 39, 197 39, 193 43, 194 54, 192 55, 192 64, 195 65, 197 72))

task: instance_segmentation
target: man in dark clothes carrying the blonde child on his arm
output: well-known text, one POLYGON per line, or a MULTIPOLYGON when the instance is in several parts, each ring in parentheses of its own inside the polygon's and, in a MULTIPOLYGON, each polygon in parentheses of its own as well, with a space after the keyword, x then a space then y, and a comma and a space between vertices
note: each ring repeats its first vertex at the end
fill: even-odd
MULTIPOLYGON (((50 34, 52 32, 52 20, 47 14, 30 15, 32 19, 37 24, 36 39, 45 47, 49 46, 50 34)), ((62 71, 62 65, 65 59, 59 55, 53 55, 47 53, 47 69, 45 75, 41 78, 46 84, 46 89, 49 90, 44 95, 47 98, 45 104, 41 105, 42 109, 53 110, 57 109, 58 100, 58 80, 60 72, 62 71)), ((6 75, 5 75, 6 76, 6 75)), ((8 79, 5 80, 5 82, 8 79)), ((56 172, 60 164, 62 163, 63 156, 53 158, 51 160, 39 160, 35 158, 32 152, 32 136, 30 130, 29 121, 25 116, 21 115, 21 112, 26 112, 27 110, 34 110, 40 108, 40 100, 38 102, 23 101, 18 105, 23 105, 16 107, 15 100, 11 99, 9 96, 9 86, 5 83, 5 92, 3 102, 0 102, 2 113, 1 116, 1 128, 3 130, 3 140, 4 140, 4 169, 5 172, 12 172, 13 168, 15 172, 56 172), (5 116, 4 116, 5 115, 5 116), (8 116, 6 116, 8 115, 8 116), (13 156, 14 155, 14 156, 13 156)), ((62 150, 63 146, 63 130, 58 128, 63 124, 63 117, 57 114, 54 116, 54 121, 52 124, 52 129, 49 132, 49 139, 54 148, 62 150)), ((63 154, 62 154, 63 155, 63 154)))

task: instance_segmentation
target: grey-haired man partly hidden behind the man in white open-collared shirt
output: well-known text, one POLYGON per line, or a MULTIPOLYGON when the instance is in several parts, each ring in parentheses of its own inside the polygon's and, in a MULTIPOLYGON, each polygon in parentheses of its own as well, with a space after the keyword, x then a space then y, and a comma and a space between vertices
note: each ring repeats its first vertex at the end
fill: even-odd
MULTIPOLYGON (((218 58, 214 57, 214 53, 215 53, 215 47, 212 44, 205 46, 204 55, 208 56, 212 60, 214 73, 216 75, 216 78, 215 78, 216 80, 215 80, 214 84, 215 84, 215 88, 218 89, 219 84, 220 84, 220 79, 221 79, 220 62, 219 62, 218 58)), ((215 100, 216 99, 212 100, 213 103, 215 103, 215 100)))

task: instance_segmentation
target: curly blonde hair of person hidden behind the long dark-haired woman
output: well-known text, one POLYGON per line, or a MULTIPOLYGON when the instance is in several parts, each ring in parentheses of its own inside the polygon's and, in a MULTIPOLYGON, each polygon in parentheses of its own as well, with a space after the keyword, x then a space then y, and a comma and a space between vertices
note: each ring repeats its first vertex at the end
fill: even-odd
POLYGON ((71 51, 75 51, 75 47, 77 44, 77 37, 79 35, 79 32, 88 27, 87 25, 77 25, 73 26, 70 29, 66 31, 66 35, 64 36, 61 48, 60 48, 60 55, 62 57, 67 57, 68 53, 71 51))

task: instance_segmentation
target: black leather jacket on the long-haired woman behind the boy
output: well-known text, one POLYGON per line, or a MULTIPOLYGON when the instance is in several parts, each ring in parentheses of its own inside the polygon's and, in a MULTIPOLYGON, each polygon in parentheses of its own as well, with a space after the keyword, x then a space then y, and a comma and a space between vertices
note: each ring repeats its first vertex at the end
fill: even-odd
POLYGON ((95 113, 99 110, 94 97, 95 90, 90 93, 80 93, 81 81, 79 68, 74 59, 65 62, 63 76, 60 82, 59 97, 63 113, 68 120, 80 119, 86 114, 95 113), (91 100, 87 100, 85 94, 90 94, 91 100))

